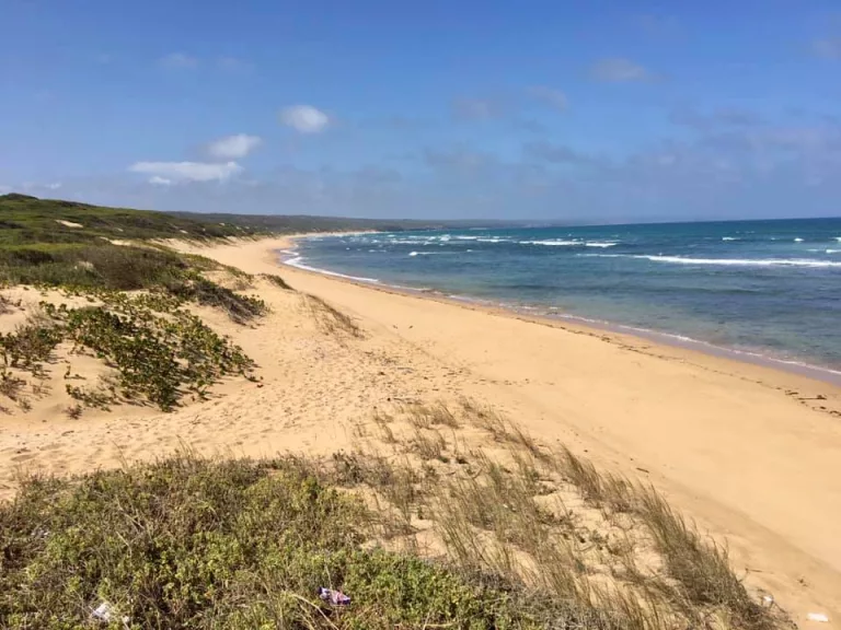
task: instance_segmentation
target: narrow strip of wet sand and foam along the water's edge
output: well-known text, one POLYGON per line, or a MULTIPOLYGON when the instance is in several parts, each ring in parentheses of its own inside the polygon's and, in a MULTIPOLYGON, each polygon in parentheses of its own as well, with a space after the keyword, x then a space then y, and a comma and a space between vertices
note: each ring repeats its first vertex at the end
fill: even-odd
MULTIPOLYGON (((320 236, 344 236, 348 234, 371 233, 372 232, 331 232, 315 234, 291 234, 284 237, 283 246, 278 248, 278 254, 283 253, 289 256, 295 255, 297 249, 297 242, 300 240, 320 236)), ((557 314, 530 313, 529 311, 539 311, 539 308, 522 307, 516 304, 491 303, 470 296, 448 295, 445 292, 435 289, 390 284, 376 278, 354 277, 330 269, 320 269, 309 265, 303 265, 300 262, 300 259, 301 257, 299 256, 295 258, 287 258, 285 260, 281 260, 278 257, 276 262, 286 267, 292 267, 301 271, 329 276, 345 282, 358 283, 362 287, 378 288, 383 291, 393 291, 395 294, 422 295, 429 300, 438 300, 453 305, 477 307, 487 310, 488 312, 510 314, 511 316, 528 319, 538 324, 544 324, 548 326, 560 326, 562 328, 580 328, 585 334, 608 332, 614 335, 623 335, 635 338, 637 341, 654 342, 671 348, 694 351, 708 357, 728 359, 759 368, 786 372, 792 375, 820 381, 832 386, 841 386, 841 370, 833 370, 828 366, 815 365, 805 361, 776 358, 759 351, 739 350, 725 346, 716 346, 715 343, 711 343, 703 339, 695 339, 677 332, 630 326, 607 319, 583 317, 562 312, 558 312, 557 314)))

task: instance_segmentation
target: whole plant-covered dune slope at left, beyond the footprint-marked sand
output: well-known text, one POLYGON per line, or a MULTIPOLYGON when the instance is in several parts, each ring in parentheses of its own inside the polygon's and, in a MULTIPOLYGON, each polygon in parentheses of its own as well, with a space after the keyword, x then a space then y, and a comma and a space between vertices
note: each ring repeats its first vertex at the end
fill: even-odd
MULTIPOLYGON (((209 306, 237 324, 253 322, 266 304, 209 275, 234 278, 243 288, 253 278, 178 254, 164 240, 212 242, 258 231, 21 195, 0 197, 0 287, 31 287, 53 296, 14 330, 0 332, 0 394, 21 409, 45 389, 60 346, 67 347, 65 388, 81 406, 68 408, 71 417, 80 408, 126 402, 169 411, 185 396, 205 398, 222 377, 254 378, 253 361, 189 311, 209 306), (80 385, 71 378, 73 358, 85 354, 110 372, 80 385), (31 395, 24 395, 27 385, 31 395)), ((8 298, 2 304, 13 308, 8 298)))

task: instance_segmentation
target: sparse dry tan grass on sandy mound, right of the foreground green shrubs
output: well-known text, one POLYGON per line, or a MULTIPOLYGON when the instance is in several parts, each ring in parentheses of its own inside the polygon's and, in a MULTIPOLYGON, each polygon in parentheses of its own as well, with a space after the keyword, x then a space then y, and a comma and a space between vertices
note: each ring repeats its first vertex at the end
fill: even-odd
MULTIPOLYGON (((435 405, 446 405, 441 401, 435 405)), ((372 489, 383 533, 399 548, 437 544, 461 571, 498 575, 532 596, 562 603, 558 627, 769 630, 790 627, 779 608, 751 595, 729 564, 726 547, 700 533, 653 488, 598 470, 562 448, 552 452, 508 418, 463 400, 460 427, 492 438, 493 457, 441 433, 425 406, 379 410, 387 427, 383 456, 362 451, 342 458, 350 487, 372 489), (406 470, 414 470, 414 476, 406 470)), ((449 410, 449 409, 448 409, 449 410)), ((475 442, 473 442, 475 444, 475 442)))

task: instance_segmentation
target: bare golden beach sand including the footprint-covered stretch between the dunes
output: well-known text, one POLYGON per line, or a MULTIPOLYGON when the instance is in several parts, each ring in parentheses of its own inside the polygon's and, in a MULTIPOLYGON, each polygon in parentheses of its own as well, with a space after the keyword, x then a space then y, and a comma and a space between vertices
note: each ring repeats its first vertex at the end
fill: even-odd
MULTIPOLYGON (((273 313, 252 328, 201 315, 260 364, 174 413, 115 409, 0 418, 0 497, 16 468, 85 471, 182 445, 201 453, 330 454, 399 400, 468 396, 546 445, 643 478, 716 537, 751 585, 804 627, 841 628, 841 388, 630 336, 359 285, 283 267, 288 238, 178 244, 350 315, 364 339, 324 335, 300 293, 261 280, 273 313)), ((0 323, 10 315, 0 315, 0 323)))

